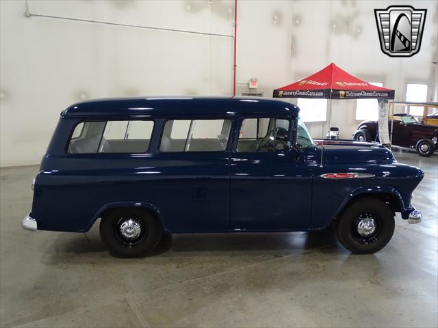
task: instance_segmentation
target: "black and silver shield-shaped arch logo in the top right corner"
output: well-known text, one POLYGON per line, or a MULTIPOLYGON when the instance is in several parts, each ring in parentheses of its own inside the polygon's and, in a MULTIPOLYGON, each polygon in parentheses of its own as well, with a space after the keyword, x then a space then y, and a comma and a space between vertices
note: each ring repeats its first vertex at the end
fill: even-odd
POLYGON ((383 53, 390 57, 411 57, 420 51, 426 9, 390 5, 374 9, 383 53))

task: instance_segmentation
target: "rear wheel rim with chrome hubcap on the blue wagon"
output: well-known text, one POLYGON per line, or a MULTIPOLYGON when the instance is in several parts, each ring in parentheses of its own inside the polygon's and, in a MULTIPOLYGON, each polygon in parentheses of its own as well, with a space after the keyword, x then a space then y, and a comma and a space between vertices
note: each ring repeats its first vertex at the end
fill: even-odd
POLYGON ((114 227, 114 232, 123 247, 131 248, 142 242, 147 231, 137 217, 121 217, 114 227))

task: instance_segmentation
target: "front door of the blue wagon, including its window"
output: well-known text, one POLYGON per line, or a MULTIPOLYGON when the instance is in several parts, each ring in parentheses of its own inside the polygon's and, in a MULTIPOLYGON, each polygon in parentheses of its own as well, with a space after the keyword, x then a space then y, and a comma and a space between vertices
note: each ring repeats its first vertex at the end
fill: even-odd
POLYGON ((290 147, 294 120, 239 120, 230 158, 231 230, 294 230, 309 227, 311 173, 290 147))

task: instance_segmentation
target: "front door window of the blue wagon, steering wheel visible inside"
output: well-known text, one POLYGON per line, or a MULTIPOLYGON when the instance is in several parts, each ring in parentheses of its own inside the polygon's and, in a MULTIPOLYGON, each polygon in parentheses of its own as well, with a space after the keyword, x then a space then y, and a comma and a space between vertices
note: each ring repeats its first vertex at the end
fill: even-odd
POLYGON ((289 120, 246 118, 240 128, 237 152, 281 152, 289 148, 289 120))

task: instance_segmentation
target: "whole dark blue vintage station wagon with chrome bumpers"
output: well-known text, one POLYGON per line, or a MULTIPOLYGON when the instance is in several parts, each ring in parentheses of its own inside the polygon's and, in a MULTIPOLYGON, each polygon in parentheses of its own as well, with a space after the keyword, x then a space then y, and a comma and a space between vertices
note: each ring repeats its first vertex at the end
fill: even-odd
POLYGON ((87 232, 118 256, 162 234, 321 230, 356 254, 382 249, 394 215, 417 223, 417 167, 378 143, 313 141, 289 102, 122 98, 61 113, 33 184, 27 230, 87 232))

